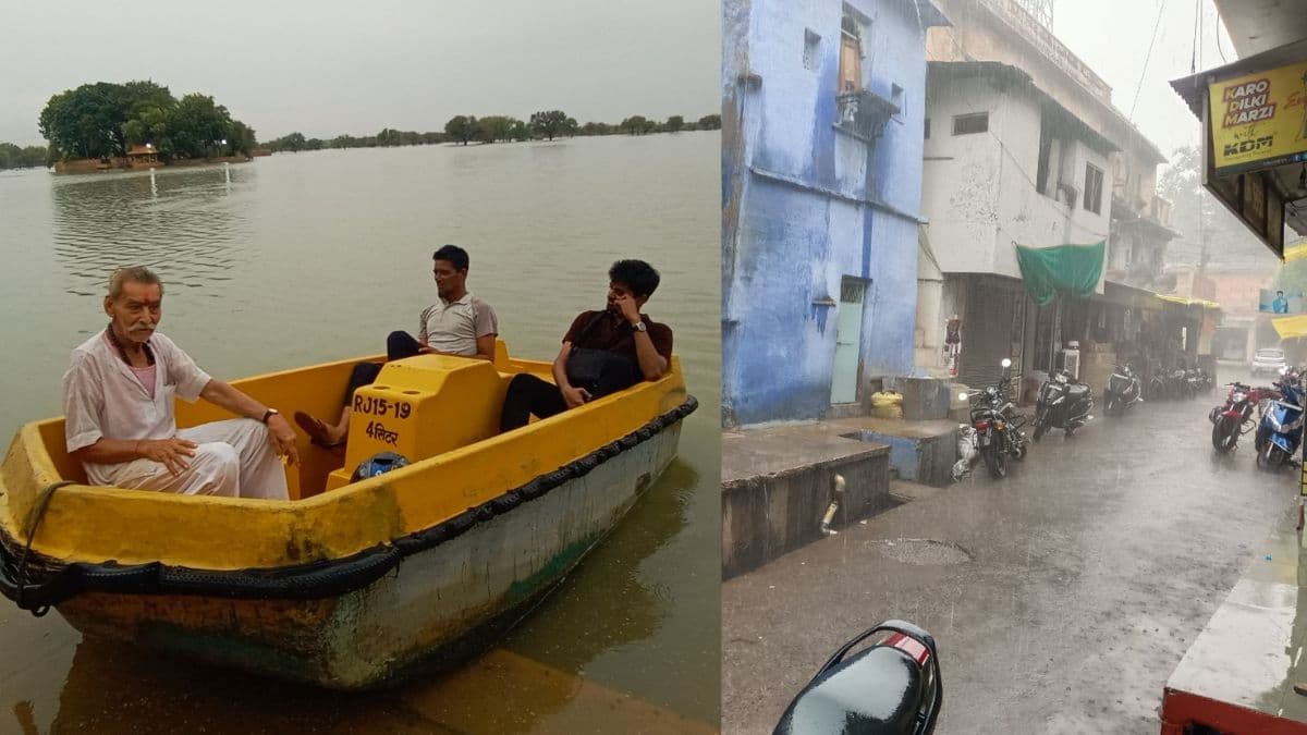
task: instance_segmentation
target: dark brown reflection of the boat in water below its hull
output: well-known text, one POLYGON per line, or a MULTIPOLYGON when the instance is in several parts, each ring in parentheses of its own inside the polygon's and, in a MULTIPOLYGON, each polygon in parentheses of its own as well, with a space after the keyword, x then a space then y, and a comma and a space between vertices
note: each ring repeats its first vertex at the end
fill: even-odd
MULTIPOLYGON (((614 731, 614 717, 626 723, 620 731, 715 731, 612 684, 565 674, 657 632, 669 595, 643 581, 631 561, 648 558, 686 527, 698 483, 693 467, 673 460, 503 647, 443 676, 378 692, 324 692, 84 638, 50 732, 576 732, 584 723, 614 731)), ((38 714, 30 702, 14 705, 25 735, 38 732, 38 714)))

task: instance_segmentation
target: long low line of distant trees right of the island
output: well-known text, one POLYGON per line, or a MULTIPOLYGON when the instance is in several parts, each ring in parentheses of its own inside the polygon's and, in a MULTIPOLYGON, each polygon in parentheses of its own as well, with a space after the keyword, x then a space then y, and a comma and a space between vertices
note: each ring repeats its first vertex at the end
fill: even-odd
POLYGON ((576 123, 575 118, 567 116, 562 110, 545 110, 535 112, 527 120, 520 120, 508 115, 488 115, 477 118, 474 115, 455 115, 444 123, 443 131, 417 132, 397 131, 386 128, 374 136, 339 135, 324 140, 319 137, 305 137, 301 132, 293 132, 263 145, 274 153, 301 150, 323 150, 329 148, 389 148, 397 145, 434 145, 442 143, 505 143, 524 140, 553 140, 558 136, 596 136, 596 135, 648 135, 657 132, 680 132, 699 129, 721 129, 721 115, 704 115, 698 120, 686 122, 681 115, 672 115, 664 122, 650 120, 643 115, 633 115, 621 123, 576 123))

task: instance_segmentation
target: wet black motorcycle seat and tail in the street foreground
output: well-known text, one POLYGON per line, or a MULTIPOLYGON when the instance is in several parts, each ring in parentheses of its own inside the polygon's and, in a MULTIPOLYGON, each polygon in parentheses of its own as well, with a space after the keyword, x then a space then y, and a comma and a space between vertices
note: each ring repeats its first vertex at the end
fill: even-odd
POLYGON ((911 623, 887 620, 840 646, 789 702, 772 735, 931 735, 942 706, 935 638, 911 623), (848 655, 859 645, 867 647, 848 655))

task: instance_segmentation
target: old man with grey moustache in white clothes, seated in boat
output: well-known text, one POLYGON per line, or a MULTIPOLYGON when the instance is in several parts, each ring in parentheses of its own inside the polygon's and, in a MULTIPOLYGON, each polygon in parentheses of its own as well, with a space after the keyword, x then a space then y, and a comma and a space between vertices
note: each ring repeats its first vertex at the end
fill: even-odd
POLYGON ((298 459, 295 432, 277 413, 210 378, 156 332, 163 284, 144 267, 108 279, 108 327, 76 349, 64 373, 68 454, 95 485, 288 500, 277 459, 298 459), (178 432, 173 398, 203 398, 238 416, 178 432))

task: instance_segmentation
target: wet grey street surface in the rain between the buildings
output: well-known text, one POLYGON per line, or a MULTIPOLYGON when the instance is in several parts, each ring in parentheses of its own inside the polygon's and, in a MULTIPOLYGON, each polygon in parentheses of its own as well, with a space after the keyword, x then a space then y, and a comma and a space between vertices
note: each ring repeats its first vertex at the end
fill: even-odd
POLYGON ((1251 442, 1214 456, 1223 395, 1050 434, 1005 480, 982 467, 723 585, 723 732, 770 731, 830 651, 899 617, 940 645, 940 735, 1155 734, 1185 649, 1297 519, 1297 472, 1257 472, 1251 442))

